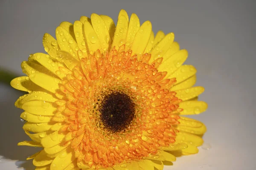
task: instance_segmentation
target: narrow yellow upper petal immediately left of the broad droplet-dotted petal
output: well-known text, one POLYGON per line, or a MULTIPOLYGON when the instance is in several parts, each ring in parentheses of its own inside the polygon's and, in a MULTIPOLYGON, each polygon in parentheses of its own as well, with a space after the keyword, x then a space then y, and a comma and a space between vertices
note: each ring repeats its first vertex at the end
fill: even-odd
POLYGON ((93 26, 88 21, 84 22, 84 34, 90 54, 96 52, 97 49, 102 49, 99 37, 96 35, 93 26))

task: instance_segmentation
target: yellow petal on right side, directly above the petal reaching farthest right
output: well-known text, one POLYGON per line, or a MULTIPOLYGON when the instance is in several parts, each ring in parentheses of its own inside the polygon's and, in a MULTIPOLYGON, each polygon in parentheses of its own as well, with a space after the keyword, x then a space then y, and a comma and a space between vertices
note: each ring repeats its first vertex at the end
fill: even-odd
POLYGON ((191 87, 191 88, 188 88, 188 89, 177 90, 175 92, 177 92, 177 94, 176 94, 177 98, 179 98, 183 101, 187 101, 191 98, 197 97, 202 92, 204 92, 204 87, 195 86, 195 87, 191 87))

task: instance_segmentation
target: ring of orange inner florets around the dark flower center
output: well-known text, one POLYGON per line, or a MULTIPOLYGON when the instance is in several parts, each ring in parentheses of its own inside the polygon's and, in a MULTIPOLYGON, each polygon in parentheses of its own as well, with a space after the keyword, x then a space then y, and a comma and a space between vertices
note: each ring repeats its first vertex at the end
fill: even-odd
POLYGON ((125 50, 125 45, 104 55, 98 50, 82 59, 62 81, 57 101, 58 113, 53 121, 63 121, 67 133, 62 144, 71 144, 78 162, 89 167, 110 167, 123 161, 140 160, 157 154, 160 147, 175 142, 179 124, 172 114, 180 102, 168 89, 175 79, 165 79, 158 72, 162 58, 149 64, 150 54, 139 59, 125 50), (106 95, 128 95, 135 104, 134 118, 124 130, 112 132, 101 121, 99 111, 106 95))

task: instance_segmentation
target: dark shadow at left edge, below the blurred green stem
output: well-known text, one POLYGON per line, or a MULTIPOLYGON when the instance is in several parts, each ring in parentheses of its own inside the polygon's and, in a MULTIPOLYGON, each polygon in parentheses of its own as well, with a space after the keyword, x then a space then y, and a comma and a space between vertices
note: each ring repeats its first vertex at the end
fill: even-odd
POLYGON ((24 94, 25 92, 15 90, 8 84, 0 83, 0 155, 3 159, 17 160, 15 165, 18 168, 34 170, 32 161, 26 161, 26 158, 38 152, 39 148, 17 146, 20 141, 30 140, 22 129, 22 110, 14 106, 17 98, 24 94))

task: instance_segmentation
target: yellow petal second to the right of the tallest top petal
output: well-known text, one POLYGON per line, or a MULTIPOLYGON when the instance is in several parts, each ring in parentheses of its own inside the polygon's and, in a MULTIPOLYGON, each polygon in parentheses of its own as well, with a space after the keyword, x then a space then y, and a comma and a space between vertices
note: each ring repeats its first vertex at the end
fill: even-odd
POLYGON ((133 54, 137 54, 138 57, 142 55, 148 45, 148 40, 152 31, 152 25, 150 21, 145 21, 142 24, 139 31, 134 37, 134 41, 131 44, 133 54))

